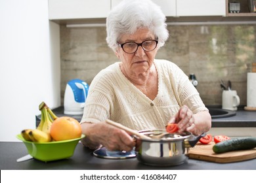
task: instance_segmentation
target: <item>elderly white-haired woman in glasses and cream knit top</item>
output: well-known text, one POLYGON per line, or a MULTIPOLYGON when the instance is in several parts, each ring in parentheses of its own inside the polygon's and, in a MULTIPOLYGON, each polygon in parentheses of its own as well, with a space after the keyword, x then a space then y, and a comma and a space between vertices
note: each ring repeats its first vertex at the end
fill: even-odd
POLYGON ((165 16, 148 0, 124 0, 106 20, 106 41, 120 62, 103 69, 89 88, 81 127, 91 149, 132 150, 131 135, 105 122, 131 129, 163 129, 177 123, 179 132, 209 131, 211 116, 196 88, 177 65, 155 59, 168 38, 165 16))

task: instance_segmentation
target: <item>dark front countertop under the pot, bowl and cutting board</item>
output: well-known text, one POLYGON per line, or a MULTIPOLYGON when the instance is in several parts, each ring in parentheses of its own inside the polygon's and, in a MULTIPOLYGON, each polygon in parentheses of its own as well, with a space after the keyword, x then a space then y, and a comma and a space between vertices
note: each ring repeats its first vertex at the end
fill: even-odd
POLYGON ((182 165, 154 167, 140 163, 137 158, 103 159, 93 156, 93 151, 78 143, 74 156, 69 159, 49 161, 30 159, 17 163, 16 159, 28 154, 23 142, 0 142, 1 170, 255 170, 256 159, 234 163, 213 163, 188 159, 182 165))

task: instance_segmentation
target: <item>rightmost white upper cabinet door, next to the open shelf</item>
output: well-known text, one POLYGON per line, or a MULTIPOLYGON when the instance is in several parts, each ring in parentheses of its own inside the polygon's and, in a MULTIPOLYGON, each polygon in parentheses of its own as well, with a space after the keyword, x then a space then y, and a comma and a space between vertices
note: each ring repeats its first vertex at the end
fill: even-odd
POLYGON ((177 16, 225 16, 225 0, 177 0, 177 16))

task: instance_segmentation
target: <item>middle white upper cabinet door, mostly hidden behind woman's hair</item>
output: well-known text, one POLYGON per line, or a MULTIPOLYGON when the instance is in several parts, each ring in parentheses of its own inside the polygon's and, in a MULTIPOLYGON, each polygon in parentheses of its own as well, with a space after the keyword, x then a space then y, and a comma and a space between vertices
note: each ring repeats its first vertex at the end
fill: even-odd
MULTIPOLYGON (((111 7, 115 7, 122 0, 111 0, 111 7)), ((152 0, 161 7, 165 16, 176 16, 176 0, 152 0)))

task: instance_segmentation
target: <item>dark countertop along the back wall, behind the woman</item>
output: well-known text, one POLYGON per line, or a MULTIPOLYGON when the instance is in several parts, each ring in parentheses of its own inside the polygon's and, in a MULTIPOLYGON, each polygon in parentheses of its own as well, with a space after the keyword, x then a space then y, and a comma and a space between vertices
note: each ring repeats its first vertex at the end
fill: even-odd
MULTIPOLYGON (((209 108, 219 108, 219 107, 209 107, 209 108)), ((64 114, 64 107, 58 107, 53 110, 56 116, 71 116, 79 122, 81 121, 82 115, 67 115, 64 114)), ((40 116, 36 117, 36 123, 39 124, 40 116)), ((240 107, 236 111, 235 116, 230 116, 226 118, 213 118, 212 127, 256 127, 256 111, 244 110, 243 107, 240 107)))

